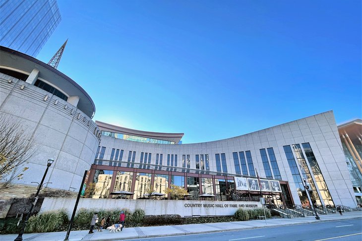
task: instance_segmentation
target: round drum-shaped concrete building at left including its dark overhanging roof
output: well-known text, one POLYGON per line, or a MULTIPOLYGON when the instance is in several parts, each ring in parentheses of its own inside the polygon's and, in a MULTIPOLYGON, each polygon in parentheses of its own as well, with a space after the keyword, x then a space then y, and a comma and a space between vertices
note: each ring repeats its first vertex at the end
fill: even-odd
POLYGON ((36 185, 48 159, 49 188, 79 188, 93 163, 101 132, 92 121, 90 96, 57 69, 21 52, 0 47, 0 114, 20 123, 33 138, 29 169, 17 184, 36 185))

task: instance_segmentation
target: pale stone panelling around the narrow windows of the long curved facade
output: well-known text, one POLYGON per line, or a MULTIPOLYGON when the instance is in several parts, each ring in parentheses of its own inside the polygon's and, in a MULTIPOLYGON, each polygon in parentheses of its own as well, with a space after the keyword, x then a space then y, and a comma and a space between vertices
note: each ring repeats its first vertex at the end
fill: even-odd
MULTIPOLYGON (((104 156, 105 160, 110 159, 112 148, 116 148, 124 150, 123 161, 127 161, 128 151, 136 151, 135 162, 138 163, 141 152, 152 153, 151 164, 156 164, 156 154, 162 153, 163 165, 167 163, 167 154, 177 154, 178 167, 182 167, 182 155, 189 154, 191 169, 196 169, 196 154, 208 154, 210 171, 213 172, 217 171, 215 154, 225 153, 228 173, 231 174, 236 174, 233 152, 249 150, 254 167, 258 170, 260 177, 266 177, 266 175, 259 149, 273 147, 282 180, 289 182, 295 203, 301 204, 283 146, 301 145, 302 143, 310 144, 334 203, 356 207, 357 203, 352 182, 333 111, 327 111, 250 134, 214 142, 161 145, 131 142, 102 136, 100 145, 107 147, 104 156)), ((305 153, 303 155, 306 158, 305 153)), ((269 156, 268 159, 270 161, 269 156)), ((297 160, 296 156, 295 159, 297 160)))

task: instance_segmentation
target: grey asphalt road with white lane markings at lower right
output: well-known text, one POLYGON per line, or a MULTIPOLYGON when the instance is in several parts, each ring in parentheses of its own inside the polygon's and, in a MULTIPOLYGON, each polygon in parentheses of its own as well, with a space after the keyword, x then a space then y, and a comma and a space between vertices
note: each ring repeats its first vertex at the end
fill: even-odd
MULTIPOLYGON (((226 224, 227 225, 227 224, 226 224)), ((361 241, 362 218, 140 241, 361 241)))

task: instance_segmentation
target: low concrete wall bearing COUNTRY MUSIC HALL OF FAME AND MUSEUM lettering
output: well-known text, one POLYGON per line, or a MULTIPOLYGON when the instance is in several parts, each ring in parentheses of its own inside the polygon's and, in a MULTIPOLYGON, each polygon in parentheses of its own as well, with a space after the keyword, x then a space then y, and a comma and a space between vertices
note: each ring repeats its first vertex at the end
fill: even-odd
MULTIPOLYGON (((68 217, 74 209, 75 198, 53 198, 46 197, 44 199, 40 213, 51 210, 66 210, 68 217)), ((189 200, 144 200, 144 199, 92 199, 81 198, 78 208, 86 208, 89 210, 121 210, 128 208, 130 211, 142 209, 146 215, 159 214, 179 214, 182 217, 192 215, 234 215, 239 208, 256 208, 262 207, 259 202, 243 202, 243 201, 189 201, 189 200), (231 206, 232 205, 232 206, 231 206)))

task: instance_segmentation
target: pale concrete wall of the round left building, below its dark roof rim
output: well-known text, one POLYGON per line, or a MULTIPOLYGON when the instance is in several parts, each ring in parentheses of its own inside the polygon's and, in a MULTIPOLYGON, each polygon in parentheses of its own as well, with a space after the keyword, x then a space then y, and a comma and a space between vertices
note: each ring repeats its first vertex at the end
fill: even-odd
POLYGON ((47 160, 54 159, 44 181, 52 182, 47 187, 79 189, 99 143, 98 127, 88 116, 49 92, 1 73, 0 114, 20 121, 24 137, 34 138, 35 153, 25 164, 29 169, 16 183, 37 185, 31 182, 39 183, 47 160))

